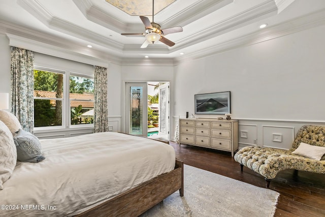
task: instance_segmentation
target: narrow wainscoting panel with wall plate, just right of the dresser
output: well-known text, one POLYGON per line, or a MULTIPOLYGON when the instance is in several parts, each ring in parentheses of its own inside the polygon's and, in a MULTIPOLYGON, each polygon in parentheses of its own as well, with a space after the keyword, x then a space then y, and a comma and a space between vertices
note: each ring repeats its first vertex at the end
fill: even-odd
POLYGON ((255 145, 257 142, 257 125, 239 123, 238 125, 239 146, 255 145))

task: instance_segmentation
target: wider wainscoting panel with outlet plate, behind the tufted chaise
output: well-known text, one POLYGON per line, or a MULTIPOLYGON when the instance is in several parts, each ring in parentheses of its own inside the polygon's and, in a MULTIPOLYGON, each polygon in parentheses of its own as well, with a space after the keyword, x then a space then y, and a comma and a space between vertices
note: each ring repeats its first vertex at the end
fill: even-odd
POLYGON ((262 126, 263 146, 290 149, 295 139, 295 127, 262 126))

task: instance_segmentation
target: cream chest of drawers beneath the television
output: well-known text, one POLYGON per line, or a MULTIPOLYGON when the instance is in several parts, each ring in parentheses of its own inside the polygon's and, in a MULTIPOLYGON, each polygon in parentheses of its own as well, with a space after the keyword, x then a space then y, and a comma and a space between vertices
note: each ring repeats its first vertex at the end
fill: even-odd
POLYGON ((179 145, 189 144, 224 151, 238 150, 238 120, 186 118, 179 120, 179 145))

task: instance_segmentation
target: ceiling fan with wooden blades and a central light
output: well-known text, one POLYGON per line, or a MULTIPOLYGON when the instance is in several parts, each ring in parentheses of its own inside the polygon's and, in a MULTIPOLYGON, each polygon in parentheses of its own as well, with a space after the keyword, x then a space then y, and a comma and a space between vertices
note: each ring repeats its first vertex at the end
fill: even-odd
POLYGON ((146 48, 150 43, 154 44, 156 41, 163 42, 164 44, 172 47, 175 45, 174 42, 168 40, 164 36, 171 33, 179 33, 183 32, 183 28, 181 26, 175 26, 171 28, 164 28, 161 29, 160 25, 158 23, 155 23, 153 21, 153 15, 154 15, 154 0, 152 0, 152 22, 150 22, 148 17, 140 16, 140 19, 142 20, 143 24, 146 27, 145 33, 122 33, 123 36, 145 36, 146 40, 141 45, 141 48, 146 48))

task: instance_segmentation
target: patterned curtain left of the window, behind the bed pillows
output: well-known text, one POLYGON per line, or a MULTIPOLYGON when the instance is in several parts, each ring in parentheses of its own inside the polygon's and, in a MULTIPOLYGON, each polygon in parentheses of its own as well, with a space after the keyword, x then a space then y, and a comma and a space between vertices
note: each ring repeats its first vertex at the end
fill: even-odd
POLYGON ((34 53, 11 47, 11 112, 23 130, 34 130, 34 53))

